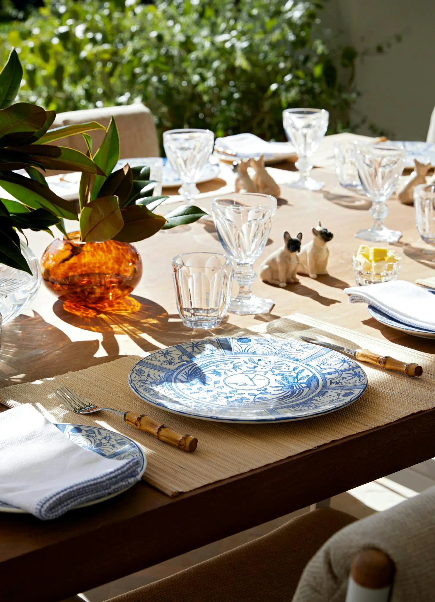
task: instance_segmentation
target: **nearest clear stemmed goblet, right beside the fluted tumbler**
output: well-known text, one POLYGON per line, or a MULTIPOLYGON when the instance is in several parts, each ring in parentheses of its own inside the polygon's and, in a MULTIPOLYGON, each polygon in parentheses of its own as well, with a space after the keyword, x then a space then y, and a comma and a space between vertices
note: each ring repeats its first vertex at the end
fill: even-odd
POLYGON ((275 211, 276 199, 269 194, 233 193, 211 202, 219 240, 236 264, 240 288, 228 308, 233 314, 261 314, 273 307, 272 299, 252 294, 251 285, 257 276, 252 265, 267 242, 275 211))

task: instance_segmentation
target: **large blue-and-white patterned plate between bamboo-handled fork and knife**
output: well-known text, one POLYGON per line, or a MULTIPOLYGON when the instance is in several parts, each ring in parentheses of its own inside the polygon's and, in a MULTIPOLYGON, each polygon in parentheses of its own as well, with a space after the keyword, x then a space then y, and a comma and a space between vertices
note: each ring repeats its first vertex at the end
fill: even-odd
POLYGON ((268 338, 208 338, 162 349, 129 374, 139 397, 175 414, 230 423, 274 423, 333 412, 367 387, 346 356, 268 338))

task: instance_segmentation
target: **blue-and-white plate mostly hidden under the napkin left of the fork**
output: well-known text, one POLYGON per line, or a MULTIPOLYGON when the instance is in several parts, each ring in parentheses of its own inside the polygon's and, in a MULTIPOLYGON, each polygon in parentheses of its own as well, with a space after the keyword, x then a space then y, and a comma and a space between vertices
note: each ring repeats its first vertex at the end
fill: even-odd
MULTIPOLYGON (((132 441, 132 439, 129 439, 129 437, 121 435, 121 433, 115 433, 113 430, 100 429, 100 427, 87 426, 85 424, 55 424, 55 426, 58 427, 70 441, 73 441, 77 445, 80 445, 80 447, 84 447, 91 452, 99 453, 100 456, 104 456, 105 458, 114 460, 140 458, 142 464, 138 471, 139 476, 142 476, 145 472, 145 468, 147 468, 147 461, 139 445, 132 441)), ((129 488, 127 487, 127 489, 129 488)), ((83 508, 85 506, 93 506, 93 504, 109 500, 111 497, 123 493, 123 491, 126 491, 126 489, 117 491, 111 495, 105 495, 96 500, 88 501, 87 503, 76 507, 83 508)), ((11 506, 3 501, 0 501, 0 512, 28 514, 26 510, 11 506)))

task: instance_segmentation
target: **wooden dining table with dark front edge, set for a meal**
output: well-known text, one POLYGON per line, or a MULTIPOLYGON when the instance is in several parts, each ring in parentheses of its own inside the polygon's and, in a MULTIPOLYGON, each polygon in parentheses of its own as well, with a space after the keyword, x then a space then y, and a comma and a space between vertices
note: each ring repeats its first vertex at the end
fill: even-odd
MULTIPOLYGON (((349 303, 343 292, 354 285, 350 257, 362 242, 354 233, 370 225, 370 201, 339 186, 330 161, 331 141, 327 142, 323 165, 312 172, 315 179, 324 181, 322 190, 285 185, 285 179, 294 181, 297 175, 291 164, 271 170, 281 182, 281 196, 266 249, 255 267, 267 253, 281 247, 285 230, 293 236, 302 232, 306 242, 320 219, 334 234, 329 243, 329 275, 315 280, 301 276, 300 284, 286 288, 257 278, 254 293, 275 302, 270 314, 228 314, 222 327, 247 327, 299 312, 432 353, 435 362, 434 340, 383 326, 370 317, 365 304, 349 303)), ((219 178, 199 186, 201 195, 196 203, 207 209, 210 199, 231 190, 233 182, 231 169, 222 166, 219 178)), ((163 206, 162 213, 178 202, 179 197, 170 197, 171 204, 163 206)), ((412 206, 395 199, 388 206, 387 225, 403 232, 400 242, 391 245, 403 255, 401 278, 415 282, 435 275, 435 249, 419 238, 412 206)), ((37 255, 49 243, 46 232, 29 232, 29 244, 37 255)), ((142 256, 143 277, 132 296, 141 303, 141 311, 78 317, 41 287, 31 308, 4 326, 1 386, 46 379, 125 355, 144 355, 201 337, 198 330, 183 326, 177 314, 171 259, 181 252, 219 252, 221 244, 212 220, 159 232, 136 247, 142 256)), ((140 482, 112 500, 52 521, 0 513, 0 600, 59 602, 410 467, 435 456, 434 428, 435 408, 178 497, 168 497, 140 482)))

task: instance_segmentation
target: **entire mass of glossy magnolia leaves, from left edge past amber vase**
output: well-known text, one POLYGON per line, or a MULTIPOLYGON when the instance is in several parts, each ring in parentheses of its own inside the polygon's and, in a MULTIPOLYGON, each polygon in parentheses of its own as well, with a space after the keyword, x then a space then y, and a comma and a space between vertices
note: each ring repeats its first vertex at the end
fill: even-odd
POLYGON ((151 196, 156 182, 146 166, 126 166, 113 171, 120 158, 120 139, 114 119, 105 138, 92 155, 92 138, 84 132, 105 129, 96 122, 49 129, 55 112, 37 105, 12 104, 22 79, 22 67, 13 50, 0 72, 0 185, 16 200, 0 199, 0 263, 31 273, 20 249, 17 231, 49 230, 67 235, 64 219, 79 220, 81 240, 135 242, 161 228, 192 223, 205 215, 195 206, 184 206, 166 217, 153 213, 165 196, 151 196), (45 145, 81 133, 87 155, 62 146, 45 145), (38 168, 38 169, 37 169, 38 168), (25 169, 28 177, 14 170, 25 169), (40 170, 82 172, 80 213, 73 203, 53 193, 40 170))

